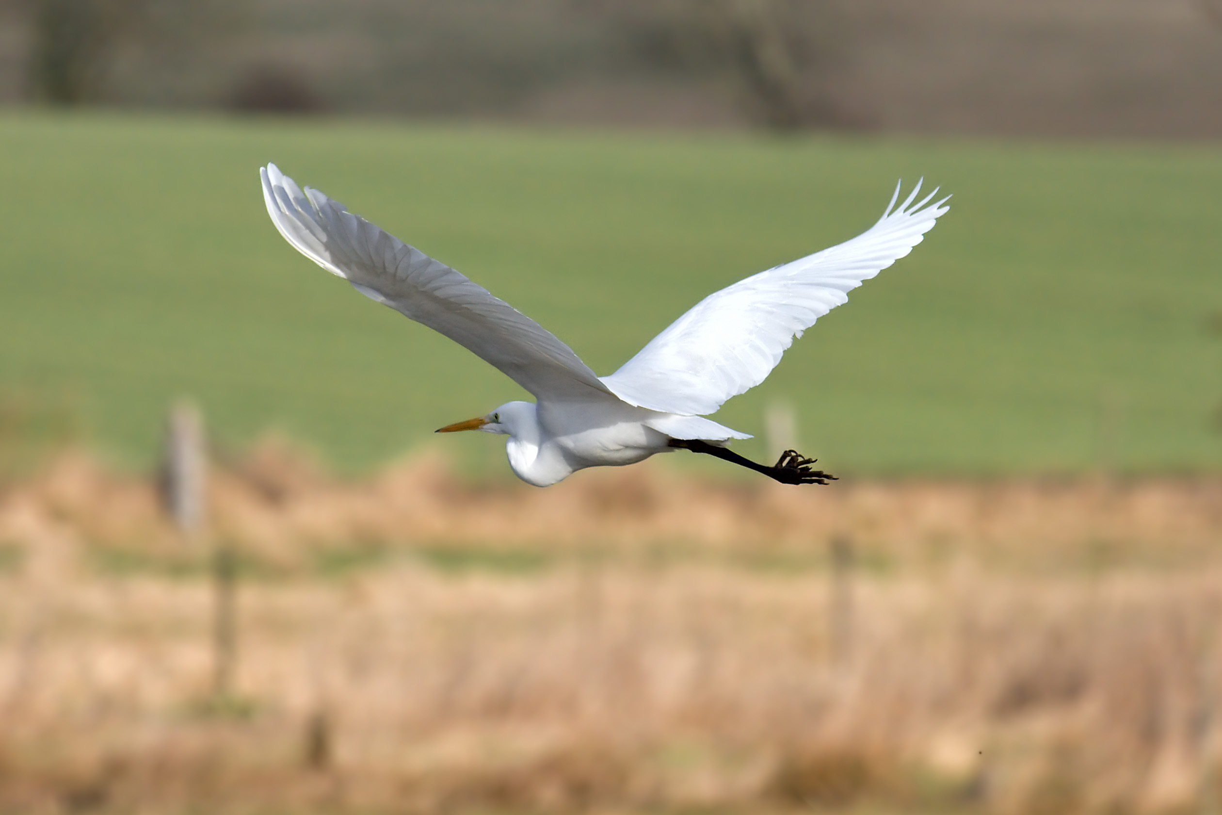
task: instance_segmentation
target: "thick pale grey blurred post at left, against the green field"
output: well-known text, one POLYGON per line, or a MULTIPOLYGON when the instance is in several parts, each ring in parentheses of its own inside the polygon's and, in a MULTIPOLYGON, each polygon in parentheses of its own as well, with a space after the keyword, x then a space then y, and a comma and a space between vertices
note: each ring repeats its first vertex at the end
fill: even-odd
POLYGON ((204 420, 189 402, 178 402, 166 420, 161 456, 161 500, 178 530, 194 539, 207 519, 208 453, 204 420))

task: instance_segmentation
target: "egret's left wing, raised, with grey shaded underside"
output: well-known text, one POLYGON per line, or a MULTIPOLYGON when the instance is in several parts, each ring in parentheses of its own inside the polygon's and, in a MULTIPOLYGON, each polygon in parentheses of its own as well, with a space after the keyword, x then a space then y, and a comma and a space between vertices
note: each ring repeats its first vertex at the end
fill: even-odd
POLYGON ((446 335, 539 400, 612 398, 568 346, 483 286, 319 191, 303 193, 274 164, 259 176, 285 239, 362 294, 446 335))

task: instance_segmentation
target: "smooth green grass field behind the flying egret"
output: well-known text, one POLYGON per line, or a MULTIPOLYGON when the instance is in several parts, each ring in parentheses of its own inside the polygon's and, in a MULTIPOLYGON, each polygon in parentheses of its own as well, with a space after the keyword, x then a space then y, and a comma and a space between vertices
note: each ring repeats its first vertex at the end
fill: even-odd
MULTIPOLYGON (((20 112, 0 149, 0 398, 61 406, 133 466, 178 395, 227 444, 279 429, 347 469, 523 396, 293 252, 263 209, 269 160, 600 374, 924 175, 951 213, 720 422, 760 433, 792 402, 846 473, 1222 466, 1222 149, 20 112)), ((463 435, 446 445, 508 472, 463 435)))

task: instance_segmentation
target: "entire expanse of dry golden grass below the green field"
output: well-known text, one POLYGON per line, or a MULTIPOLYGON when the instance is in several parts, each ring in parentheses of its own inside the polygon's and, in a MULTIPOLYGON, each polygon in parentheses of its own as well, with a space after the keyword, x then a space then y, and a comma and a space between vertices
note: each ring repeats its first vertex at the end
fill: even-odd
POLYGON ((0 811, 1162 813, 1216 777, 1218 481, 346 484, 269 446, 213 499, 254 565, 229 699, 147 483, 0 494, 0 811))

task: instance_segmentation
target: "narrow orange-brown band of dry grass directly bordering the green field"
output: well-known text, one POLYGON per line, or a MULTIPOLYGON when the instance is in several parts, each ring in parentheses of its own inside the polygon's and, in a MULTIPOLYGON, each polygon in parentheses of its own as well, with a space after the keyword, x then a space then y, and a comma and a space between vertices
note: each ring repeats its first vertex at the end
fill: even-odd
MULTIPOLYGON (((1222 478, 864 481, 794 490, 710 484, 665 462, 588 470, 546 490, 473 484, 424 456, 340 481, 270 441, 211 480, 211 536, 286 568, 313 554, 464 546, 622 556, 818 561, 851 536, 876 566, 964 554, 1022 568, 1194 566, 1222 528, 1222 478)), ((50 524, 92 546, 165 554, 175 535, 150 479, 71 453, 2 490, 0 540, 50 524), (27 528, 29 527, 29 528, 27 528)), ((181 549, 181 547, 180 547, 181 549)))

